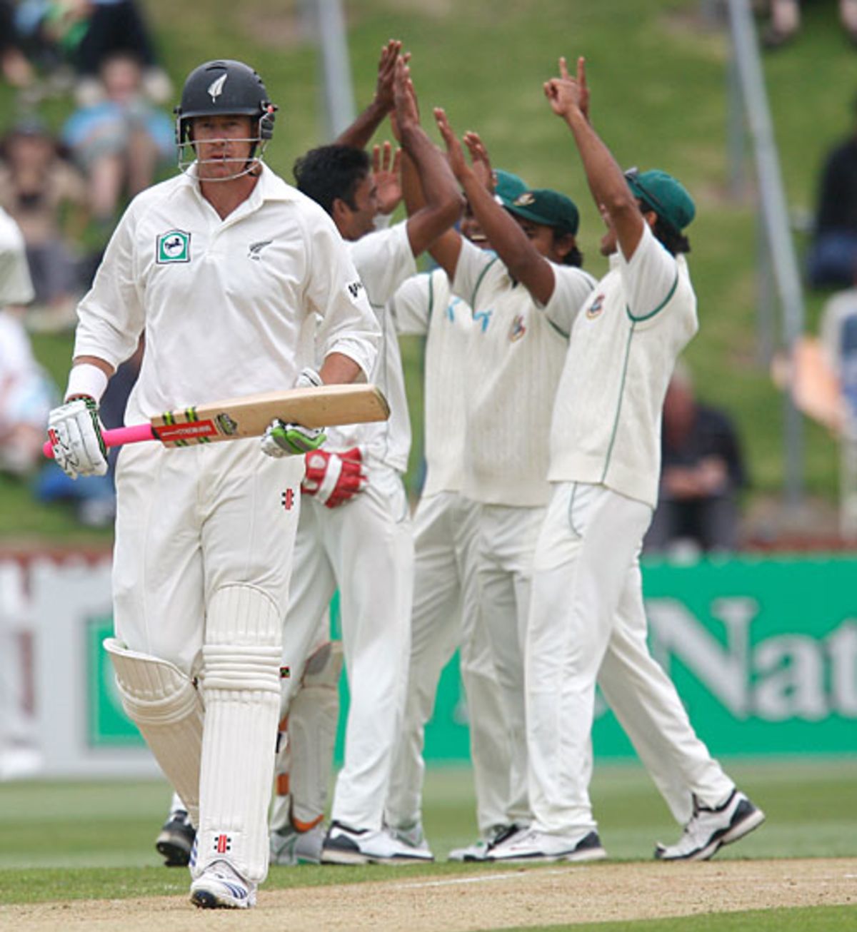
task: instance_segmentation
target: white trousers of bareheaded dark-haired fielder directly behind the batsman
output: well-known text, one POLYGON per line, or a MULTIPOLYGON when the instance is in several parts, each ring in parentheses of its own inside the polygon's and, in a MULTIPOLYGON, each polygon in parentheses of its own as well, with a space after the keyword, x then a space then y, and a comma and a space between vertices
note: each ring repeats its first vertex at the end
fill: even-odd
POLYGON ((381 827, 405 699, 413 592, 401 476, 385 466, 367 472, 366 489, 337 508, 304 496, 283 632, 285 653, 296 640, 302 645, 292 651, 299 671, 339 588, 351 705, 332 818, 354 829, 381 827))

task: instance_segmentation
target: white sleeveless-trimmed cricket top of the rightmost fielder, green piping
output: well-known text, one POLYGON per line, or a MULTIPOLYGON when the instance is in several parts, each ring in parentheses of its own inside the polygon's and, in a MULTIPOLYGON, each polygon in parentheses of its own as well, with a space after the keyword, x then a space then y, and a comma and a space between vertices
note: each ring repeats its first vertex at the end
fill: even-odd
POLYGON ((660 421, 676 357, 698 329, 683 255, 649 226, 574 322, 550 432, 551 482, 596 483, 657 504, 660 421))

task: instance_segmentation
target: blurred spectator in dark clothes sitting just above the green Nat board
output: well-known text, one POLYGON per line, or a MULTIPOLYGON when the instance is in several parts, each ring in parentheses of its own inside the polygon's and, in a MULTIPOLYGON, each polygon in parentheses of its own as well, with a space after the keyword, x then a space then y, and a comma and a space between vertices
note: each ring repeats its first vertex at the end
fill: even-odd
POLYGON ((664 399, 657 509, 646 554, 692 543, 732 551, 738 543, 738 491, 746 484, 738 435, 722 411, 698 404, 687 369, 676 366, 664 399))

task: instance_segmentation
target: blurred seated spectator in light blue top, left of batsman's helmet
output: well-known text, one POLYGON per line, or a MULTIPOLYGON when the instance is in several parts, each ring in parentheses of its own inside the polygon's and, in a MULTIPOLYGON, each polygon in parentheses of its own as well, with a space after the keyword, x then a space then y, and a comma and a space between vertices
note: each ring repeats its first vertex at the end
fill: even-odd
POLYGON ((62 140, 89 179, 95 220, 110 227, 125 193, 129 198, 155 180, 160 163, 175 154, 173 120, 143 96, 140 63, 118 53, 101 69, 105 100, 67 120, 62 140))

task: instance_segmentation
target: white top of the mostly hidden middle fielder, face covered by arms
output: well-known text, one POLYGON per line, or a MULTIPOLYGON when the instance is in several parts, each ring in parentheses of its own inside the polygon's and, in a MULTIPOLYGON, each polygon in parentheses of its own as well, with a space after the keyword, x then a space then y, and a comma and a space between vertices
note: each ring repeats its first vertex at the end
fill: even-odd
POLYGON ((424 334, 422 496, 460 492, 464 482, 467 349, 473 311, 451 293, 442 268, 405 281, 390 303, 400 334, 424 334))

